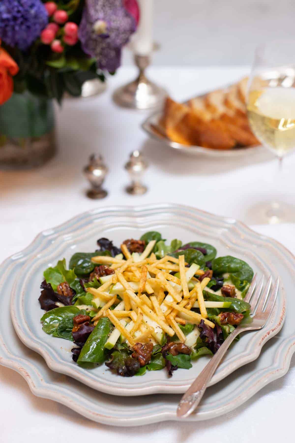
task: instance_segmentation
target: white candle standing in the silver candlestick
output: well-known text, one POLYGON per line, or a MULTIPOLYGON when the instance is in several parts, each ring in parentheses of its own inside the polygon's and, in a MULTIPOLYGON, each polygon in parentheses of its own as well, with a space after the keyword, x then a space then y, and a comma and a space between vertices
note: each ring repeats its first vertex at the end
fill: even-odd
POLYGON ((153 51, 153 0, 138 0, 139 23, 132 47, 137 55, 149 55, 153 51))

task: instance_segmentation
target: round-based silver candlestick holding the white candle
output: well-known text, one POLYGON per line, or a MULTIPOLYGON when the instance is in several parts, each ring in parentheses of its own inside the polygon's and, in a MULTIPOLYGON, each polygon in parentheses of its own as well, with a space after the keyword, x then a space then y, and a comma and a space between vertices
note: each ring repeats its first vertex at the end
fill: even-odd
POLYGON ((167 92, 146 78, 145 70, 150 64, 149 55, 134 55, 134 62, 139 70, 138 77, 115 91, 115 103, 132 109, 150 109, 161 105, 167 92))

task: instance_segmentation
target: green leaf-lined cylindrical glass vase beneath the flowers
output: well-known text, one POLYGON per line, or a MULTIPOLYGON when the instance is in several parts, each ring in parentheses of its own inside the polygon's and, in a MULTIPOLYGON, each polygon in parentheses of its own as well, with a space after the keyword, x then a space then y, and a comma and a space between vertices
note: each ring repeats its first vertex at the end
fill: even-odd
POLYGON ((53 101, 13 93, 0 106, 0 168, 42 166, 55 153, 53 101))

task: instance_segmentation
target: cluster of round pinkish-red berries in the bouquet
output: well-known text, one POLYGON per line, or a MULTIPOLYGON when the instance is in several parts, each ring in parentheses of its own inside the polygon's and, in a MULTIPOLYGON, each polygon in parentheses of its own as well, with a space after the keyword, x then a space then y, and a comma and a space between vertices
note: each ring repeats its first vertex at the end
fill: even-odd
POLYGON ((54 1, 48 1, 44 6, 48 16, 52 17, 53 21, 48 23, 46 28, 41 32, 41 41, 45 45, 50 45, 53 52, 61 53, 65 49, 63 43, 69 46, 73 46, 77 43, 78 26, 76 23, 68 21, 69 16, 67 12, 62 9, 57 9, 57 4, 54 1), (64 25, 62 41, 55 38, 60 29, 60 25, 64 25))

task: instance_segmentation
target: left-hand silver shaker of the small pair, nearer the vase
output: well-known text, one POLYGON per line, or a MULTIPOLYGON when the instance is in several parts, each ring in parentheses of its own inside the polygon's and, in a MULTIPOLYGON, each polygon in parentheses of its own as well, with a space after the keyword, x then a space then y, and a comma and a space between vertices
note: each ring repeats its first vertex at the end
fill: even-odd
POLYGON ((102 156, 92 154, 89 158, 89 164, 84 167, 83 172, 92 186, 92 189, 89 189, 86 193, 87 197, 93 199, 105 198, 107 191, 102 188, 102 185, 108 168, 103 163, 102 156))

